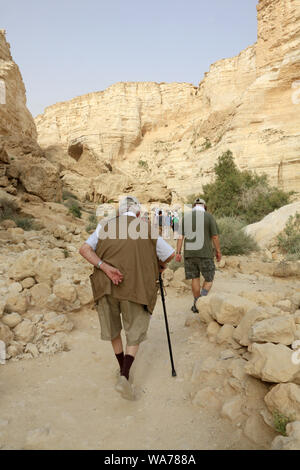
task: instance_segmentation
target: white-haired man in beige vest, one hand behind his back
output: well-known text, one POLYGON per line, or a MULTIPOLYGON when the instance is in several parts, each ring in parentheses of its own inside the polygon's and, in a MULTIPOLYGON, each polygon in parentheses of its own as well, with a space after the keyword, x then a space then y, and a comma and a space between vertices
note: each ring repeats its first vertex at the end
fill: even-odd
POLYGON ((146 338, 157 299, 159 271, 174 257, 174 249, 139 218, 136 198, 126 197, 119 214, 101 221, 79 253, 94 266, 91 284, 101 327, 101 338, 112 343, 120 366, 116 390, 134 399, 129 371, 139 344, 146 338), (132 236, 139 232, 139 237, 132 236), (125 231, 125 236, 124 236, 125 231), (122 322, 126 348, 121 338, 122 322))

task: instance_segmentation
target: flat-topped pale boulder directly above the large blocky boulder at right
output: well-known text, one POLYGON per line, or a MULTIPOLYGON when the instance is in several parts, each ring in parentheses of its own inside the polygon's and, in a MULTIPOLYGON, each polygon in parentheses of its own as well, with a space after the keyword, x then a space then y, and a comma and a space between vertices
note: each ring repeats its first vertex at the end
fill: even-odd
POLYGON ((292 344, 295 339, 295 322, 291 316, 278 316, 261 320, 250 329, 253 342, 292 344))

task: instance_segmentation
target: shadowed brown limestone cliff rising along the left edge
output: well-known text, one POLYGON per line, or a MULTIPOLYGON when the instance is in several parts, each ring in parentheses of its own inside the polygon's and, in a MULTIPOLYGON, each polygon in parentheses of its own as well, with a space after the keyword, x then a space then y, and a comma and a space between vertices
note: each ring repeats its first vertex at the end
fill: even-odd
POLYGON ((0 188, 10 195, 21 190, 46 201, 59 200, 59 169, 44 157, 37 144, 22 76, 4 30, 0 30, 0 98, 0 188))

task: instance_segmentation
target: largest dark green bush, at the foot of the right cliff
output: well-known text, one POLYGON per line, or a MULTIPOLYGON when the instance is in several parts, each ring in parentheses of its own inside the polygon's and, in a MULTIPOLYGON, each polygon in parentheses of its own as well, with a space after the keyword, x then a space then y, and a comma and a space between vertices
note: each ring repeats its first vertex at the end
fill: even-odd
POLYGON ((214 173, 215 181, 204 185, 197 196, 205 199, 216 217, 240 217, 251 224, 290 202, 292 192, 271 186, 267 175, 240 171, 230 150, 218 158, 214 173))

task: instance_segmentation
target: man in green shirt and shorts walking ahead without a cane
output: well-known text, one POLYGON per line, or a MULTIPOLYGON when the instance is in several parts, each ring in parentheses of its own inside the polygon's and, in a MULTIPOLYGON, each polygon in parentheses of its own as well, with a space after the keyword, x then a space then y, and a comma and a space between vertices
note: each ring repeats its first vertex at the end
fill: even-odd
POLYGON ((186 279, 192 279, 194 303, 192 311, 199 313, 196 302, 199 297, 206 296, 211 289, 215 276, 213 245, 217 261, 222 254, 218 236, 218 227, 214 217, 206 212, 203 199, 194 201, 191 212, 182 219, 181 234, 177 240, 176 261, 181 261, 181 248, 184 240, 184 268, 186 279), (204 277, 200 286, 200 273, 204 277))

